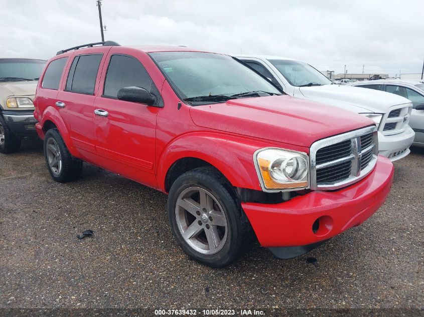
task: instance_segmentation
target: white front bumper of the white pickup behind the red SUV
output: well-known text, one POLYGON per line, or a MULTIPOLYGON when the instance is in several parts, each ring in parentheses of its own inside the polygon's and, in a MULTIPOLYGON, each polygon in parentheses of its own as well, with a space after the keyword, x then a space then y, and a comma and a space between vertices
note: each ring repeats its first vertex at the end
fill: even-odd
POLYGON ((383 135, 378 131, 378 154, 396 161, 410 153, 409 147, 414 139, 415 132, 407 126, 405 131, 394 135, 383 135))

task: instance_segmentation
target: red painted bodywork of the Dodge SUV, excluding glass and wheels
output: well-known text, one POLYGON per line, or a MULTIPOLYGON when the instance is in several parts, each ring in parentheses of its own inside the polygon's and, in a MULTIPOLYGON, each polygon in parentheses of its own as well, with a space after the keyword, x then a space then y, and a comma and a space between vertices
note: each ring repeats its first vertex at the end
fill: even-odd
MULTIPOLYGON (((253 164, 257 149, 273 146, 309 153, 309 146, 318 139, 372 124, 363 116, 288 96, 190 107, 178 98, 147 55, 188 50, 95 47, 54 57, 52 60, 68 57, 68 61, 59 91, 41 87, 44 74, 39 81, 34 104, 40 138, 44 138, 45 125, 51 121, 74 156, 163 192, 169 168, 185 157, 210 163, 235 187, 260 190, 253 164), (103 54, 94 95, 65 92, 73 58, 89 53, 103 54), (113 53, 133 56, 144 65, 161 92, 164 108, 102 97, 113 53), (56 107, 57 101, 64 102, 65 108, 56 107), (95 116, 97 108, 107 110, 109 116, 95 116)), ((391 163, 379 158, 368 177, 344 189, 311 192, 281 204, 243 203, 242 207, 262 245, 308 244, 368 218, 384 201, 392 175, 391 163), (329 232, 321 229, 316 235, 312 223, 320 216, 332 219, 323 218, 323 228, 329 232)))

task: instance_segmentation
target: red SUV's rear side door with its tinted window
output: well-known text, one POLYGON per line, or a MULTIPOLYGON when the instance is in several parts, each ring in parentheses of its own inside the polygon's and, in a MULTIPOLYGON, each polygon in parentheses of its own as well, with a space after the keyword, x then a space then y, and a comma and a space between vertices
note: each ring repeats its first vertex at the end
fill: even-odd
POLYGON ((89 54, 72 56, 62 89, 57 95, 56 107, 62 117, 72 145, 82 158, 92 161, 95 153, 93 129, 93 104, 95 87, 103 59, 110 48, 98 48, 89 54), (93 52, 93 53, 91 53, 93 52))

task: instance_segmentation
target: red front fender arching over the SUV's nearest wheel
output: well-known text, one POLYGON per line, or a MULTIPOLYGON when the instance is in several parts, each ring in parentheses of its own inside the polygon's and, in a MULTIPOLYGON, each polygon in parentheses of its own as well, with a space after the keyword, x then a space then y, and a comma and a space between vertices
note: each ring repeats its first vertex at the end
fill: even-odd
POLYGON ((179 159, 194 157, 217 168, 235 187, 261 190, 253 163, 253 153, 269 142, 215 132, 193 132, 172 140, 162 152, 157 165, 158 187, 165 192, 170 167, 179 159))

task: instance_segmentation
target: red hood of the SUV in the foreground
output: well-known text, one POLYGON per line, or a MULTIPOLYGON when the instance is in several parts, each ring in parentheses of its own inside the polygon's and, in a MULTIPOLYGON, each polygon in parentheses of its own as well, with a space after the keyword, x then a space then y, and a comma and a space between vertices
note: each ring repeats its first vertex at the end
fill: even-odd
POLYGON ((374 124, 362 115, 290 96, 195 106, 190 114, 200 127, 303 147, 374 124))

